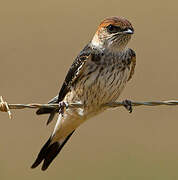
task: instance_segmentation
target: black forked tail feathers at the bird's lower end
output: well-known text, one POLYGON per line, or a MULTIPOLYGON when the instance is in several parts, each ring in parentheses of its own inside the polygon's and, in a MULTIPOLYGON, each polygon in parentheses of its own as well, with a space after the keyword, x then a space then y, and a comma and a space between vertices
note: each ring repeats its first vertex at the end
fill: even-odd
POLYGON ((31 168, 36 168, 44 160, 41 169, 43 171, 46 170, 49 167, 49 165, 51 164, 51 162, 54 160, 54 158, 59 154, 59 152, 61 151, 63 146, 69 140, 69 138, 72 136, 74 131, 72 133, 70 133, 61 144, 59 142, 50 144, 51 143, 51 137, 50 137, 48 139, 48 141, 46 142, 46 144, 41 149, 36 161, 33 163, 31 168))

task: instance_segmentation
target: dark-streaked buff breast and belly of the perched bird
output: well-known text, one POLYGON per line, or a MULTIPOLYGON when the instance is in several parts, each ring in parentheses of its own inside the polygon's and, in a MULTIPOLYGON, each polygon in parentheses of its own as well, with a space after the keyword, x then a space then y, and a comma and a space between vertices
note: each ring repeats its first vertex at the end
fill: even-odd
POLYGON ((105 52, 92 55, 68 96, 72 102, 85 105, 87 111, 115 101, 125 87, 131 73, 130 49, 122 53, 105 52))

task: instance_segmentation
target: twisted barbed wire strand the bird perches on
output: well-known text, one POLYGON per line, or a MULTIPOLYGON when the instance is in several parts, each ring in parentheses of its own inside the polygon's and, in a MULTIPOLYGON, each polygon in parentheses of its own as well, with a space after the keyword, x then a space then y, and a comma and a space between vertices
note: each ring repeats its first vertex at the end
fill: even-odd
MULTIPOLYGON (((168 105, 168 106, 175 106, 178 105, 178 100, 167 100, 167 101, 146 101, 146 102, 137 102, 137 101, 130 101, 132 106, 161 106, 161 105, 168 105)), ((80 103, 71 103, 68 104, 69 108, 81 108, 83 107, 80 103)), ((103 104, 103 107, 107 108, 115 108, 119 106, 125 106, 124 102, 111 102, 107 104, 103 104)), ((10 109, 36 109, 36 108, 49 108, 49 109, 59 109, 59 104, 39 104, 39 103, 31 103, 31 104, 8 104, 6 101, 3 100, 2 96, 0 96, 0 111, 7 112, 9 118, 12 118, 12 113, 10 109)))

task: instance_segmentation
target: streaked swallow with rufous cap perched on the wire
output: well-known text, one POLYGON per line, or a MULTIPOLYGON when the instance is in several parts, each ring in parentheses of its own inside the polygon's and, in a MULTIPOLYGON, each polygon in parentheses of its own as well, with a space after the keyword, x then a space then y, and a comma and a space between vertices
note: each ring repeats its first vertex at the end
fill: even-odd
MULTIPOLYGON (((59 95, 49 101, 59 103, 60 113, 53 133, 31 168, 43 162, 42 170, 46 170, 80 124, 106 110, 103 104, 118 99, 134 73, 136 55, 127 48, 133 33, 131 23, 123 17, 108 17, 101 22, 91 42, 73 62, 59 95), (83 106, 67 107, 70 103, 83 106)), ((48 113, 47 124, 57 111, 37 111, 48 113)))

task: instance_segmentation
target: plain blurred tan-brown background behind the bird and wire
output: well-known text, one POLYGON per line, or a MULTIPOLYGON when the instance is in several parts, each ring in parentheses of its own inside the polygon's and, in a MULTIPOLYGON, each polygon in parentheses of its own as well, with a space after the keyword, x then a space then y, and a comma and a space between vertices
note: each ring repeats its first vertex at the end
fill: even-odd
MULTIPOLYGON (((1 0, 0 95, 46 103, 57 95, 79 51, 107 16, 128 18, 137 53, 120 100, 178 99, 177 1, 1 0)), ((31 170, 54 123, 35 110, 0 113, 0 179, 178 179, 178 109, 116 108, 84 123, 46 172, 31 170)))

